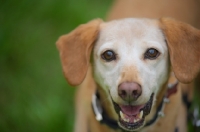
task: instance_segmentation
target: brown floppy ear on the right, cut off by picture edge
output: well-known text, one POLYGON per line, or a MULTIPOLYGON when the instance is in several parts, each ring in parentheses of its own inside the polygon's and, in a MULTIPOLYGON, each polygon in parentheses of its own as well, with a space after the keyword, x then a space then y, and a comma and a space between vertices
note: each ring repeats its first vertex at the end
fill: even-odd
POLYGON ((161 18, 172 69, 182 83, 191 82, 200 70, 200 30, 170 18, 161 18))

